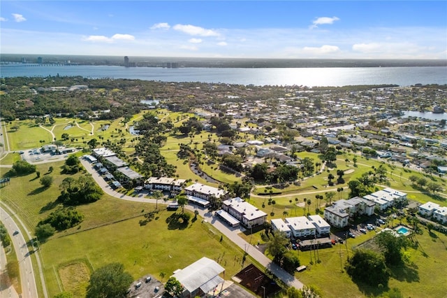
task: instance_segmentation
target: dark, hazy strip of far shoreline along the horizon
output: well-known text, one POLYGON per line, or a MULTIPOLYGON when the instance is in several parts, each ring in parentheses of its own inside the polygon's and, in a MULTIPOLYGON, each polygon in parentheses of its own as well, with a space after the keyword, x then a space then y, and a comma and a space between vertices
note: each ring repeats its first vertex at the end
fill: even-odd
MULTIPOLYGON (((76 64, 90 66, 124 66, 124 56, 2 54, 1 63, 76 64)), ((447 59, 261 59, 261 58, 191 58, 132 57, 137 67, 203 68, 332 68, 332 67, 418 67, 447 66, 447 59)))

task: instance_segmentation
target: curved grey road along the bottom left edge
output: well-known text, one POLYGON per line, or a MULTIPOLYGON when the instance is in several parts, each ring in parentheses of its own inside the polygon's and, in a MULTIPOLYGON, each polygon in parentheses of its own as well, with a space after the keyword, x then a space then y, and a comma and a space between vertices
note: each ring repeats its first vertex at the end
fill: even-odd
POLYGON ((7 213, 2 207, 0 207, 0 220, 8 230, 8 234, 15 248, 15 253, 17 254, 17 260, 20 268, 20 281, 22 283, 21 297, 36 298, 38 297, 38 292, 36 280, 34 278, 33 264, 31 262, 31 254, 28 250, 24 236, 22 235, 22 232, 15 233, 15 231, 20 231, 19 227, 15 223, 15 219, 12 218, 10 213, 7 213))

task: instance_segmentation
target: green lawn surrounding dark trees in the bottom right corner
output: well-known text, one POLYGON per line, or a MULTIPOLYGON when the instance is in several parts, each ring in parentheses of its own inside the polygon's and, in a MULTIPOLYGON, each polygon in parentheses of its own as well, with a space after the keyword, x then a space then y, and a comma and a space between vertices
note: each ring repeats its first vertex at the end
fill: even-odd
MULTIPOLYGON (((333 248, 318 250, 321 263, 315 264, 316 251, 298 252, 301 264, 309 266, 311 255, 314 264, 306 271, 295 274, 305 284, 314 284, 323 290, 323 297, 363 297, 381 295, 378 288, 356 285, 344 271, 346 256, 353 254, 353 246, 374 236, 375 232, 368 232, 356 239, 349 239, 348 246, 337 244, 333 248), (328 285, 330 281, 330 285, 328 285)), ((425 230, 423 235, 417 236, 419 248, 409 248, 411 262, 416 267, 406 266, 393 268, 388 288, 398 288, 403 297, 444 297, 440 292, 440 285, 447 282, 444 272, 446 258, 447 237, 438 232, 430 236, 425 230)), ((384 289, 386 291, 386 289, 384 289)))

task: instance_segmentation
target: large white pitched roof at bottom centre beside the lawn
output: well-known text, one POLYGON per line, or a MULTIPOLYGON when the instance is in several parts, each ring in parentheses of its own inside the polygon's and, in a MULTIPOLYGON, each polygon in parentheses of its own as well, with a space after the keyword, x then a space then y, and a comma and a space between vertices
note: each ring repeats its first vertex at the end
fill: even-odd
POLYGON ((223 271, 225 269, 217 262, 203 257, 188 267, 177 271, 173 276, 189 292, 193 292, 198 288, 201 288, 203 292, 208 292, 223 281, 219 277, 219 274, 223 271))

